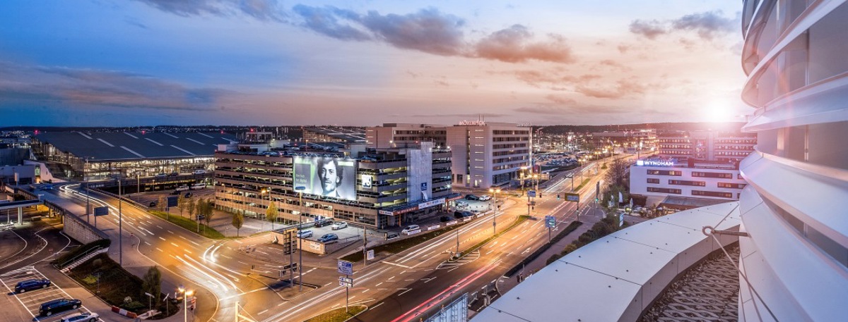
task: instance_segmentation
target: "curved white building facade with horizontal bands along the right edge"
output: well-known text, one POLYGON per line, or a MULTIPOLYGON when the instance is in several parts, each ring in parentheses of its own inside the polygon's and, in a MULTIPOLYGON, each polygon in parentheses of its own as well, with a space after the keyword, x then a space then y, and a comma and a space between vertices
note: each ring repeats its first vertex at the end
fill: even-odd
POLYGON ((739 319, 845 320, 848 3, 745 1, 739 319))

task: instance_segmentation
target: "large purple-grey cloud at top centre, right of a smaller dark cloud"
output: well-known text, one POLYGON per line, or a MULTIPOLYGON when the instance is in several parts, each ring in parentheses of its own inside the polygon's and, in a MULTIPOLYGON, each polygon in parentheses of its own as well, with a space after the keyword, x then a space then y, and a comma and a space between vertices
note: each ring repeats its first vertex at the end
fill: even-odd
POLYGON ((454 56, 464 46, 461 27, 465 21, 435 8, 404 15, 369 11, 361 23, 382 41, 398 48, 454 56))

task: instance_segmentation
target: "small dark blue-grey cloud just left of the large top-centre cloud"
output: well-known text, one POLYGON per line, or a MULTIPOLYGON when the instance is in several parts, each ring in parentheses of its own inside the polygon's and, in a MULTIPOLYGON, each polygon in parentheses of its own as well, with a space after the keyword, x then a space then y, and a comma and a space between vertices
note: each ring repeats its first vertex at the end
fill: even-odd
POLYGON ((343 41, 369 41, 371 35, 354 28, 358 23, 358 14, 335 7, 310 7, 298 4, 293 8, 294 13, 304 19, 301 26, 343 41))

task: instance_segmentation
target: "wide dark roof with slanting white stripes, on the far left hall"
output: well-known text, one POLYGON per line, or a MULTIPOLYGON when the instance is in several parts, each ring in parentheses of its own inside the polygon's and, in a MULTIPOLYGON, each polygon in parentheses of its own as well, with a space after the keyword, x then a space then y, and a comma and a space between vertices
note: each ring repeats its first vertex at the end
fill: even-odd
POLYGON ((220 133, 52 132, 34 137, 42 143, 91 161, 178 159, 213 156, 218 145, 236 141, 220 133))

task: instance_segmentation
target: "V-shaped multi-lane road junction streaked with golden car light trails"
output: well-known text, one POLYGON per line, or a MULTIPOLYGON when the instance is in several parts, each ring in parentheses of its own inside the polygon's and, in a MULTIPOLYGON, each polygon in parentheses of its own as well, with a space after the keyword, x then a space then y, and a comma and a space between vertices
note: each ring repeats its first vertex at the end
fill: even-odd
MULTIPOLYGON (((338 287, 338 274, 333 269, 319 263, 326 264, 326 259, 306 256, 301 268, 306 287, 304 292, 296 292, 281 288, 281 282, 269 276, 276 274, 263 274, 262 270, 276 272, 275 269, 280 268, 278 262, 263 261, 239 252, 242 245, 238 240, 216 241, 200 237, 126 203, 120 207, 122 223, 119 224, 116 199, 92 193, 90 202, 109 207, 109 216, 98 218, 97 223, 98 228, 113 240, 109 256, 123 261, 126 269, 137 276, 142 276, 149 266, 158 265, 163 273, 163 292, 173 294, 180 286, 194 290, 198 304, 193 313, 200 321, 229 321, 237 311, 264 322, 305 320, 329 308, 343 307, 347 293, 349 303, 371 308, 357 319, 394 322, 417 320, 423 310, 445 297, 498 284, 506 270, 547 242, 548 231, 541 220, 544 216, 555 216, 557 229, 575 220, 577 204, 556 198, 556 194, 571 191, 571 182, 566 178, 568 173, 571 172, 563 172, 547 183, 544 198, 535 200, 531 211, 533 219, 505 232, 518 216, 527 214, 527 199, 499 196, 502 207, 497 214, 477 218, 455 232, 365 268, 357 264, 351 276, 354 287, 349 292, 338 287), (493 221, 498 222, 498 232, 502 233, 498 238, 459 261, 448 261, 457 243, 461 251, 492 236, 493 221), (119 225, 123 228, 122 234, 119 225)), ((590 181, 580 192, 581 200, 594 203, 594 185, 603 172, 594 174, 594 171, 586 173, 590 181)), ((86 195, 76 188, 70 184, 42 193, 44 198, 82 214, 86 195)), ((588 215, 592 210, 589 204, 581 205, 581 219, 600 219, 600 216, 588 215)), ((504 292, 502 288, 499 291, 504 292)))

